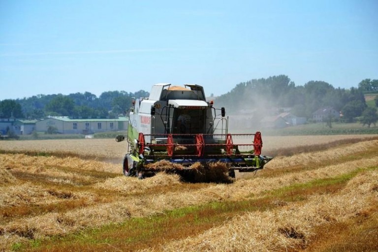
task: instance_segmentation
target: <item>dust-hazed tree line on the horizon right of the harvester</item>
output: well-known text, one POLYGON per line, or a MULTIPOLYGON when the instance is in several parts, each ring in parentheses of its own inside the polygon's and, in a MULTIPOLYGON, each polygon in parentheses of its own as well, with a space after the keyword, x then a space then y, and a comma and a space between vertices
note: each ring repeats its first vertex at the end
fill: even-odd
POLYGON ((352 122, 368 107, 364 93, 378 91, 377 84, 378 80, 365 79, 358 88, 350 89, 334 88, 324 81, 309 81, 303 86, 296 86, 288 76, 278 75, 239 83, 230 92, 218 97, 216 102, 220 104, 218 106, 228 108, 231 114, 254 111, 257 119, 272 115, 274 109, 284 108, 290 108, 295 116, 312 118, 317 109, 332 107, 343 114, 346 122, 352 122))

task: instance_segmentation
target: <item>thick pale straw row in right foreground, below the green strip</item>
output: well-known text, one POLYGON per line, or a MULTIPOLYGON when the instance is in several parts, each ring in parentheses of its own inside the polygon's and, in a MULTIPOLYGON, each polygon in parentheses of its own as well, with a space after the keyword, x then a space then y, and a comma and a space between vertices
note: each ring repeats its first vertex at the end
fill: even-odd
MULTIPOLYGON (((172 241, 157 251, 285 251, 304 248, 315 226, 345 221, 378 197, 378 171, 352 179, 336 195, 316 195, 283 209, 247 213, 196 237, 172 241)), ((147 249, 144 251, 154 251, 147 249)))

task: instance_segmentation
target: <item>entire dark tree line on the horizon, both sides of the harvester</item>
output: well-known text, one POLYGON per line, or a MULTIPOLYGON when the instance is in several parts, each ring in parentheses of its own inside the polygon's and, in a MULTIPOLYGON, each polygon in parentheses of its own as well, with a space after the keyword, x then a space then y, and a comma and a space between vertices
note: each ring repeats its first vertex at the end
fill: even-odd
MULTIPOLYGON (((230 92, 217 97, 216 102, 217 107, 226 107, 228 114, 255 111, 256 119, 272 115, 272 108, 290 108, 295 116, 312 118, 317 109, 332 107, 342 112, 346 122, 352 122, 367 109, 364 93, 376 91, 378 80, 364 79, 358 88, 342 89, 324 81, 309 81, 303 86, 296 86, 288 76, 278 75, 239 83, 230 92)), ((131 97, 148 96, 148 92, 140 90, 135 93, 108 91, 98 97, 85 92, 6 99, 0 101, 0 118, 113 117, 125 112, 131 97)))

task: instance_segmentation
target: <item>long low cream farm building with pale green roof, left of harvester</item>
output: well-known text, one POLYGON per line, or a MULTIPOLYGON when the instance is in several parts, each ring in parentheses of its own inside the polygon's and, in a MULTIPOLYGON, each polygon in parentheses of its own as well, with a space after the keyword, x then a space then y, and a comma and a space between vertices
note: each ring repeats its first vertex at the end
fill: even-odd
POLYGON ((54 131, 62 134, 93 134, 96 132, 118 131, 127 129, 128 119, 70 119, 68 117, 49 117, 36 123, 37 131, 54 131))

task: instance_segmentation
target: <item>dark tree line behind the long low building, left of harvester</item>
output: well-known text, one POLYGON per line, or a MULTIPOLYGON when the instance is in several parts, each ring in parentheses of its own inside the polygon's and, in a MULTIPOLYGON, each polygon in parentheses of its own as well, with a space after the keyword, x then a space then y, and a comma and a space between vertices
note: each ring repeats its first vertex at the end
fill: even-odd
POLYGON ((103 92, 98 97, 90 92, 69 95, 33 95, 22 99, 0 101, 0 118, 39 119, 46 116, 69 116, 72 118, 112 118, 125 114, 132 97, 148 97, 140 90, 103 92))

